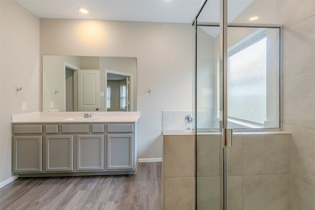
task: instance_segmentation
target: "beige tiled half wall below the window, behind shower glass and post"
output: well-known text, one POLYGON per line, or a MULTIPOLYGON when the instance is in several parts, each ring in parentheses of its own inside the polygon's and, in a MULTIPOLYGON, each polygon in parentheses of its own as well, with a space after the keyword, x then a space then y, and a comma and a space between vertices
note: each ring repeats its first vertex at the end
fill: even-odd
MULTIPOLYGON (((228 208, 290 210, 286 132, 237 133, 228 150, 228 208)), ((197 207, 220 209, 219 134, 197 135, 197 207)), ((301 209, 302 210, 302 209, 301 209)))

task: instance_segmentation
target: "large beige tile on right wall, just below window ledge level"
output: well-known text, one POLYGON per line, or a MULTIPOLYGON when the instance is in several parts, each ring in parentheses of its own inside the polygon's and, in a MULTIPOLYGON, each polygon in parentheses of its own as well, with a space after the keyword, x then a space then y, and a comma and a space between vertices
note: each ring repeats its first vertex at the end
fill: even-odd
POLYGON ((315 130, 284 125, 292 133, 291 173, 315 186, 315 130))

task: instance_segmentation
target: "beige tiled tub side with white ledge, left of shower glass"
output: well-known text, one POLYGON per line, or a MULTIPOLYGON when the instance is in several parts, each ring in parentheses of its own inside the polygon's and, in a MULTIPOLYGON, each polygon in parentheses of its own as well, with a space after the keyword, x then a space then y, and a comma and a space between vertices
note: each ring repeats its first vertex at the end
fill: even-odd
POLYGON ((164 210, 195 209, 195 136, 189 130, 163 130, 164 210))

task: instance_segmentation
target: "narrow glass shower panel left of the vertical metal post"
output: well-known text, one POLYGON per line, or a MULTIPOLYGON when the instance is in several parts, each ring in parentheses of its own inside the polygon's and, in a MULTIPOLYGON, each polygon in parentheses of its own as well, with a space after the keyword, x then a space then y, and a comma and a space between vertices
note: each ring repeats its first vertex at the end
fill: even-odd
POLYGON ((209 0, 195 20, 196 209, 220 210, 220 1, 209 0))

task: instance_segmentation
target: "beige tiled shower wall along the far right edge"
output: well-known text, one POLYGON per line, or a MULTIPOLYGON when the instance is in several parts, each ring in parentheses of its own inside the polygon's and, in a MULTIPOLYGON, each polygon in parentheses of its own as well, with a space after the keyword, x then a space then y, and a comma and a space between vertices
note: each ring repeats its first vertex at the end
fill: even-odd
POLYGON ((287 13, 294 14, 283 32, 283 130, 292 133, 291 210, 315 210, 315 1, 287 5, 287 13))

